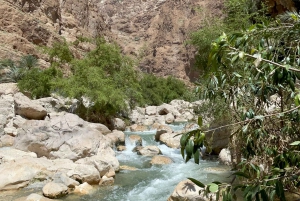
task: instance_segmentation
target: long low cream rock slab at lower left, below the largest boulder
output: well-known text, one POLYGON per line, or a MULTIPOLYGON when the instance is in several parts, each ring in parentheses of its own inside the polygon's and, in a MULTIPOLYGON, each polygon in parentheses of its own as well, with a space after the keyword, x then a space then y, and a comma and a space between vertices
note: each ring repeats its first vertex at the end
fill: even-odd
MULTIPOLYGON (((4 148, 0 151, 2 149, 4 148)), ((0 157, 2 158, 0 191, 23 188, 34 181, 55 180, 60 174, 66 177, 60 176, 58 181, 66 182, 65 185, 69 186, 75 186, 77 182, 89 184, 100 182, 100 173, 94 165, 77 164, 68 159, 37 158, 32 153, 23 153, 19 150, 2 151, 0 157)))

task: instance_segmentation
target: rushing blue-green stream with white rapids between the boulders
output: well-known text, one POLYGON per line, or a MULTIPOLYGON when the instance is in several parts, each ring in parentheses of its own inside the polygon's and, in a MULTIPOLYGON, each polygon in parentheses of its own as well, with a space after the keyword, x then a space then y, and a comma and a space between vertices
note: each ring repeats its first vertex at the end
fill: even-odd
MULTIPOLYGON (((182 130, 184 125, 171 126, 174 131, 182 130)), ((166 201, 176 185, 188 177, 200 180, 203 183, 211 181, 226 181, 230 175, 229 167, 220 165, 217 160, 201 160, 200 165, 192 160, 185 163, 180 150, 171 149, 154 140, 156 131, 125 132, 126 151, 117 152, 120 166, 129 166, 136 170, 123 170, 116 174, 113 186, 99 187, 91 195, 68 195, 60 200, 65 201, 166 201), (156 145, 164 156, 173 160, 168 165, 151 165, 151 157, 137 155, 132 152, 135 147, 128 139, 129 135, 140 135, 143 146, 156 145)), ((18 191, 18 196, 30 193, 41 193, 41 187, 29 186, 18 191)), ((15 197, 15 196, 13 196, 15 197)), ((0 199, 1 200, 1 199, 0 199)))

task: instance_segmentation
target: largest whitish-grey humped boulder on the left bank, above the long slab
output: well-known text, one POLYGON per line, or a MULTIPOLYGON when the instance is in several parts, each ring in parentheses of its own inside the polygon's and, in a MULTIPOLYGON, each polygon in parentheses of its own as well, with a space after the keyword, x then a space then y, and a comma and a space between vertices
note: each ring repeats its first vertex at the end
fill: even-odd
POLYGON ((19 130, 14 147, 35 152, 38 157, 73 161, 110 149, 110 140, 87 125, 70 113, 52 115, 47 121, 27 120, 19 130))

